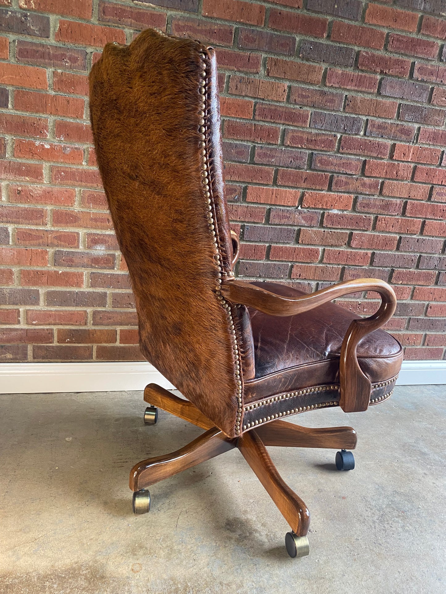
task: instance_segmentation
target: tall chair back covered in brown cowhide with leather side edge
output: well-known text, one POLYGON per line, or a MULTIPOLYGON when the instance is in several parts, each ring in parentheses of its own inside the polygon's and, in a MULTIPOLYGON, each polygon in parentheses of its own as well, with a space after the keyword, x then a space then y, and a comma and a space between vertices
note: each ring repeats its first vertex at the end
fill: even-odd
POLYGON ((252 355, 240 345, 244 308, 218 290, 233 253, 215 53, 150 29, 130 46, 109 43, 90 74, 90 113, 142 351, 234 437, 241 357, 252 355))

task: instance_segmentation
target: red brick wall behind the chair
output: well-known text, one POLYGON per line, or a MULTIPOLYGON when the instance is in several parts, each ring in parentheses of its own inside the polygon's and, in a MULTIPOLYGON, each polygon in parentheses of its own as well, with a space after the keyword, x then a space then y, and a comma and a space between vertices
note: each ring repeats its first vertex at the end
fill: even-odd
MULTIPOLYGON (((444 0, 0 0, 1 361, 140 358, 87 72, 104 43, 149 26, 218 48, 238 274, 307 290, 388 280, 406 359, 443 358, 445 12, 444 0)), ((362 297, 343 304, 373 312, 362 297)))

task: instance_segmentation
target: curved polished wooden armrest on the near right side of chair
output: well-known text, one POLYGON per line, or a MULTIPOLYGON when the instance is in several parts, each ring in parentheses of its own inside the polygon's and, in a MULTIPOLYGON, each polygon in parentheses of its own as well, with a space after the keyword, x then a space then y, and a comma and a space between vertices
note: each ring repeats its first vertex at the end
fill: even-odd
POLYGON ((358 279, 332 285, 326 289, 296 298, 277 295, 243 280, 225 280, 221 293, 225 299, 263 311, 268 315, 297 315, 319 307, 349 293, 375 291, 381 296, 378 311, 368 318, 353 320, 341 345, 340 401, 344 412, 367 410, 372 383, 359 366, 356 347, 367 334, 383 326, 394 314, 397 305, 394 290, 384 280, 358 279))

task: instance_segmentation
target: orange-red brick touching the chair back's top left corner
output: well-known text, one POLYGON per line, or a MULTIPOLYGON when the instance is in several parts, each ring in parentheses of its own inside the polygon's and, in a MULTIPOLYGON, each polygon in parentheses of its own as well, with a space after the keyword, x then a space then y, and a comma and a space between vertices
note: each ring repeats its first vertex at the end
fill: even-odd
POLYGON ((75 45, 93 46, 102 48, 106 43, 116 41, 125 44, 125 33, 115 27, 103 27, 77 21, 59 20, 59 28, 54 39, 75 45))

